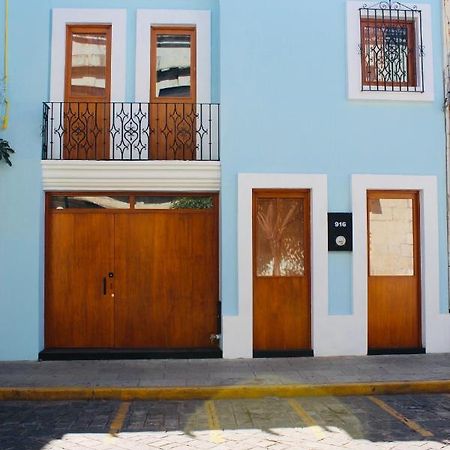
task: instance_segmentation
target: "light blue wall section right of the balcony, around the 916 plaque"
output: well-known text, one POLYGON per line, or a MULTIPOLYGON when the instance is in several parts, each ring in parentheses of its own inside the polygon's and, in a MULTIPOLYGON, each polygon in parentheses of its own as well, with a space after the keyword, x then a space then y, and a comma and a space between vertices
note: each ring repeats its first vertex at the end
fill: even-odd
MULTIPOLYGON (((433 9, 433 103, 347 99, 344 0, 221 2, 225 314, 238 311, 237 268, 228 262, 237 258, 239 172, 327 174, 329 211, 351 211, 351 174, 437 175, 440 302, 448 309, 440 1, 425 3, 433 9)), ((329 312, 351 314, 351 254, 330 253, 328 275, 329 312)))

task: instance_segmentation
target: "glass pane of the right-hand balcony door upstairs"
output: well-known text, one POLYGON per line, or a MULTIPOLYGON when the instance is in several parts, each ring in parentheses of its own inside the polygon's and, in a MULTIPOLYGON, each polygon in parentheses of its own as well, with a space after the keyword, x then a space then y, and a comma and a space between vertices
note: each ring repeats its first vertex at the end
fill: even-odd
POLYGON ((190 34, 157 34, 156 97, 191 96, 190 34))

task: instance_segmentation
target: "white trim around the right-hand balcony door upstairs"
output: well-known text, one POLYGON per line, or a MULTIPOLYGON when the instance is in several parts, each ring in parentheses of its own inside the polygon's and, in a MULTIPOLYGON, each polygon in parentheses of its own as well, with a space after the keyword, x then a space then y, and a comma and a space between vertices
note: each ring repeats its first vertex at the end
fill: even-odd
POLYGON ((152 25, 195 26, 197 30, 197 103, 211 102, 211 13, 201 10, 138 9, 136 29, 137 102, 150 101, 152 25))

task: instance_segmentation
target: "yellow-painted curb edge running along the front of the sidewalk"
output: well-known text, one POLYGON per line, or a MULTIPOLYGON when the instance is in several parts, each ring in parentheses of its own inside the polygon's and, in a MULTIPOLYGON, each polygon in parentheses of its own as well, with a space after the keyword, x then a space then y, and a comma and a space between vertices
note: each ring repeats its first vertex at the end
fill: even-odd
POLYGON ((188 387, 0 387, 0 400, 193 400, 450 393, 450 380, 188 387))

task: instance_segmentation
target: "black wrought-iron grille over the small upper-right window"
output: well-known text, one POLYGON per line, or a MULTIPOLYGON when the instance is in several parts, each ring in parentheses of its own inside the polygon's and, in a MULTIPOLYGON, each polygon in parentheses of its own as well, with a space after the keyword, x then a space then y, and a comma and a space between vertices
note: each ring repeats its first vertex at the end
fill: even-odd
POLYGON ((424 92, 422 11, 381 1, 359 9, 361 90, 424 92))

